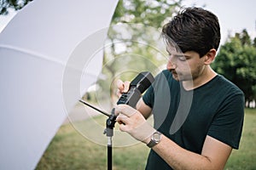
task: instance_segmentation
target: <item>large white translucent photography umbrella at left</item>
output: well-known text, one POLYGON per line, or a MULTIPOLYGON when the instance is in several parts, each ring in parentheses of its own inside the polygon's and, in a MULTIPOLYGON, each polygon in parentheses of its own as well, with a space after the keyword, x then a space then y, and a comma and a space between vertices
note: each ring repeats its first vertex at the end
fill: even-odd
POLYGON ((36 0, 2 31, 0 169, 35 168, 81 97, 73 89, 84 92, 96 82, 102 67, 98 49, 107 37, 107 29, 101 30, 108 27, 116 4, 36 0), (83 83, 74 87, 78 80, 83 83))

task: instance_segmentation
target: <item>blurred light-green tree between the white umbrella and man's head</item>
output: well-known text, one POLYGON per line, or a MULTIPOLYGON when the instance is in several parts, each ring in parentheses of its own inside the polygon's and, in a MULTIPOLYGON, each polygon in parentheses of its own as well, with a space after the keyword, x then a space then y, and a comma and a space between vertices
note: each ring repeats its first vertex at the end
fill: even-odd
POLYGON ((110 80, 100 81, 102 92, 109 92, 114 99, 116 79, 131 80, 139 71, 152 72, 166 64, 160 29, 177 13, 181 3, 182 0, 119 0, 103 58, 102 72, 110 80))

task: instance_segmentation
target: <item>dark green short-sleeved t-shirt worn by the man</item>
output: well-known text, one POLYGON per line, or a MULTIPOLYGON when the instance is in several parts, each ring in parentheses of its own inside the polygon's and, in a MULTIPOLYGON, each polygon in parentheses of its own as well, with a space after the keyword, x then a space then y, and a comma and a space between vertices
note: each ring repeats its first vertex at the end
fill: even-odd
MULTIPOLYGON (((186 150, 201 154, 207 135, 238 149, 244 116, 244 95, 222 76, 194 90, 162 71, 143 95, 153 108, 154 128, 186 150)), ((150 150, 146 169, 172 169, 150 150)))

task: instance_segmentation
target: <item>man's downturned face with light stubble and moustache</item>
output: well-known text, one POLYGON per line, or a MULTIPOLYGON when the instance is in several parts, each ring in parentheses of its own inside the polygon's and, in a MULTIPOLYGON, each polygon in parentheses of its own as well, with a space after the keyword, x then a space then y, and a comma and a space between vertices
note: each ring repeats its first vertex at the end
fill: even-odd
POLYGON ((170 51, 167 69, 172 71, 172 77, 177 81, 191 81, 201 76, 205 67, 205 56, 200 58, 200 55, 194 51, 185 53, 177 53, 175 50, 170 51))

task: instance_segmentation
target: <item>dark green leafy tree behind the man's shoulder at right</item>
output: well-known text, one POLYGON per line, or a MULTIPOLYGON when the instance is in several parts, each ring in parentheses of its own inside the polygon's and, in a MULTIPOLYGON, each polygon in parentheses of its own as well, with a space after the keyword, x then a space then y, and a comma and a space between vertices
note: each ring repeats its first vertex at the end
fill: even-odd
POLYGON ((247 102, 256 99, 256 48, 246 30, 236 33, 221 46, 213 69, 234 82, 247 102))

